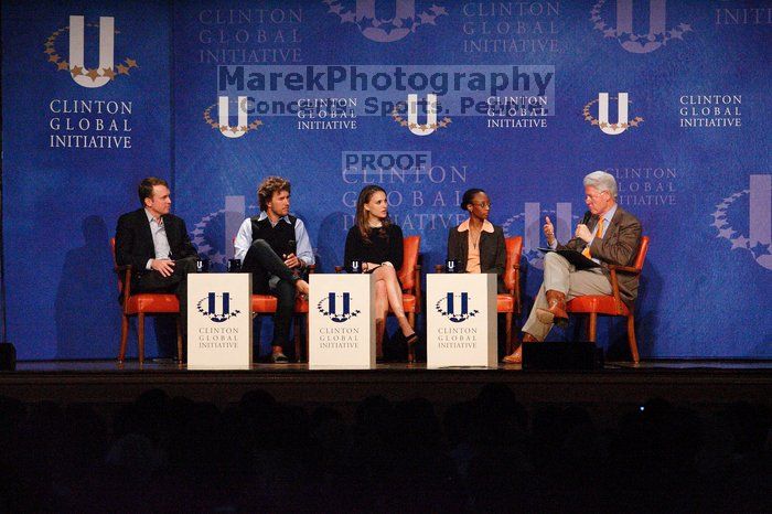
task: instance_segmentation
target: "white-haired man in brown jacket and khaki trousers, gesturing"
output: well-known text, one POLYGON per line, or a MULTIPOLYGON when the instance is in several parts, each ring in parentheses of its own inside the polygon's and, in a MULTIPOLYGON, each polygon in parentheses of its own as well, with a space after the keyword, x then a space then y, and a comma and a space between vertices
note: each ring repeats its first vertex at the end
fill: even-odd
MULTIPOLYGON (((641 222, 616 204, 616 181, 603 171, 594 171, 583 180, 585 203, 589 221, 577 226, 575 237, 561 245, 555 238, 555 226, 546 217, 544 235, 553 249, 572 249, 600 265, 577 270, 565 257, 550 251, 544 257, 544 283, 530 315, 523 325, 523 342, 544 341, 553 324, 568 323, 566 301, 587 295, 611 295, 609 265, 632 266, 641 244, 641 222)), ((620 272, 622 301, 632 310, 637 297, 637 275, 620 272)), ((504 357, 506 363, 521 363, 522 346, 504 357)))

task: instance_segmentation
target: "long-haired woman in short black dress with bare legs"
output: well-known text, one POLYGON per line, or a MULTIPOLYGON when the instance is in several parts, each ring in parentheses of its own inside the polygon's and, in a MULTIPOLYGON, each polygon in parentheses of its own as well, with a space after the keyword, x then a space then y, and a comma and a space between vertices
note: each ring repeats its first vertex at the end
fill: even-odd
POLYGON ((346 236, 345 265, 358 260, 362 271, 373 274, 375 282, 376 352, 383 357, 383 339, 389 307, 397 318, 408 346, 415 346, 418 335, 403 308, 403 289, 397 271, 403 267, 403 231, 388 217, 386 191, 368 185, 356 201, 354 226, 346 236))

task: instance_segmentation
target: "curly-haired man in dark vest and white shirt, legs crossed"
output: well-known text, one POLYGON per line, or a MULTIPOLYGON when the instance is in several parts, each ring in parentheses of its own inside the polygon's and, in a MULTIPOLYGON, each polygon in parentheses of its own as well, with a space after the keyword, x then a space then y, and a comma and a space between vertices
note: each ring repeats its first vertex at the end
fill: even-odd
POLYGON ((289 213, 290 191, 289 181, 281 176, 264 180, 257 189, 260 214, 242 223, 234 243, 242 270, 253 274, 253 293, 274 295, 278 300, 270 358, 281 364, 288 362, 283 349, 289 342, 294 297, 309 292, 308 282, 300 277, 314 263, 305 225, 289 213))

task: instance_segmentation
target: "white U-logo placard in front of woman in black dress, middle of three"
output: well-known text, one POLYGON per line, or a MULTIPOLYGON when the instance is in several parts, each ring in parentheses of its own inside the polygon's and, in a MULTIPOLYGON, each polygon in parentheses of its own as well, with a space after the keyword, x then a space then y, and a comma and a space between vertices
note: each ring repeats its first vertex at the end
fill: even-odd
POLYGON ((375 367, 375 287, 372 275, 312 274, 309 367, 375 367))

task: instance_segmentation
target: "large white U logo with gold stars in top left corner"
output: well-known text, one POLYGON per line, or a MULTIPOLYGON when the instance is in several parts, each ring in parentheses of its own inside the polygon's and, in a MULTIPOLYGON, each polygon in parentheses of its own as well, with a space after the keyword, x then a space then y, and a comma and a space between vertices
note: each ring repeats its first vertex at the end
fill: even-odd
MULTIPOLYGON (((129 57, 125 57, 118 66, 115 66, 115 35, 119 33, 115 30, 112 17, 100 17, 97 25, 86 23, 84 17, 71 15, 68 26, 54 31, 45 40, 43 53, 49 56, 49 62, 53 63, 57 71, 67 72, 76 84, 89 88, 101 87, 115 81, 116 77, 128 76, 131 68, 139 67, 137 61, 129 57), (84 58, 86 28, 98 29, 99 32, 99 64, 93 68, 86 66, 84 58), (69 34, 68 61, 65 61, 56 47, 58 38, 64 33, 69 34)), ((95 40, 94 43, 96 43, 95 40)))

